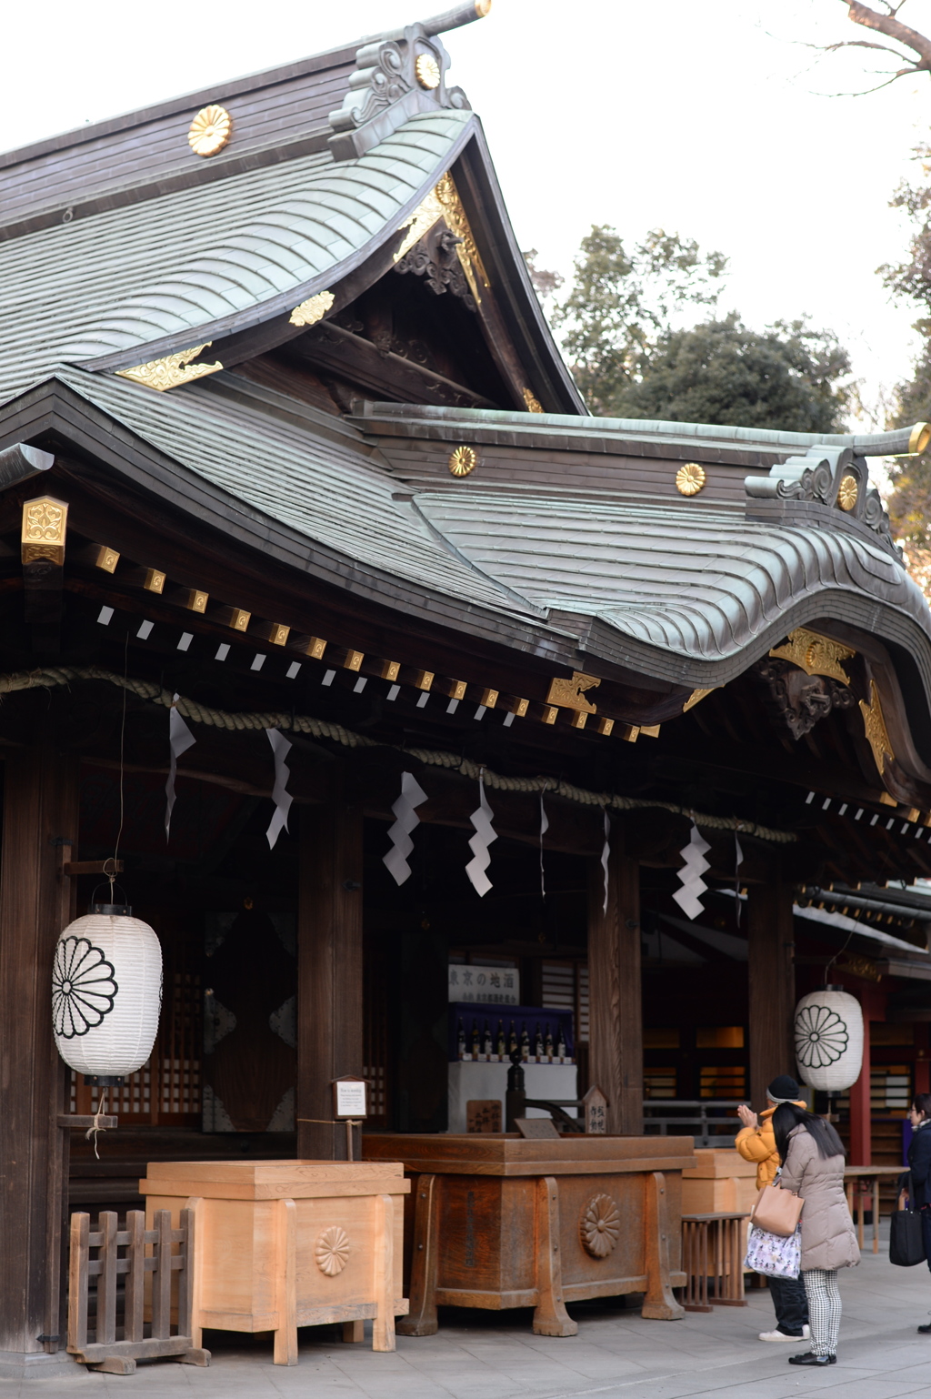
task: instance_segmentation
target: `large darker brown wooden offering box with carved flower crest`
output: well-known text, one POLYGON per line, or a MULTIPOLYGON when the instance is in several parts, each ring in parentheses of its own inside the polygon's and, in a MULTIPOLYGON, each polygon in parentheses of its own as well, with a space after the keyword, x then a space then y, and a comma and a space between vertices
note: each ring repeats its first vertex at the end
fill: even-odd
POLYGON ((535 1307, 540 1336, 575 1336, 566 1302, 646 1293, 643 1315, 682 1316, 682 1168, 692 1137, 366 1136, 366 1158, 412 1175, 405 1336, 436 1307, 535 1307))

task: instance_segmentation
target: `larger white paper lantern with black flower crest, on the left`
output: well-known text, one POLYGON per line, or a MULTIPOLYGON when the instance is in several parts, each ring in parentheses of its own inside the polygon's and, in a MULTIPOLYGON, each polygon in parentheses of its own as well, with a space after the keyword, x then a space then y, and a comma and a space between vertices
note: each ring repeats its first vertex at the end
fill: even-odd
POLYGON ((152 1052, 162 1006, 162 949, 154 930, 119 904, 94 904, 55 949, 52 1028, 77 1073, 136 1073, 152 1052))

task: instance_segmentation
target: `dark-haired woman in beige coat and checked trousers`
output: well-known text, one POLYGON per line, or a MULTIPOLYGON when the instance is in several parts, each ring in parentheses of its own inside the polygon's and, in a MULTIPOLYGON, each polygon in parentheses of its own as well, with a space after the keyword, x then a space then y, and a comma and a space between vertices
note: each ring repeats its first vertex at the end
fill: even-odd
POLYGON ((860 1248, 844 1198, 844 1149, 829 1122, 783 1102, 773 1112, 780 1185, 805 1202, 801 1217, 801 1276, 808 1297, 811 1350, 790 1365, 833 1365, 840 1332, 837 1269, 856 1267, 860 1248))

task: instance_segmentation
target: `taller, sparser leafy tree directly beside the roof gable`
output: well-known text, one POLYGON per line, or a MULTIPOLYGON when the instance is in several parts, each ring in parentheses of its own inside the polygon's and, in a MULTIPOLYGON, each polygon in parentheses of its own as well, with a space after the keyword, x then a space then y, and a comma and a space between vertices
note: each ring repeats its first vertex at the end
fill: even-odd
POLYGON ((629 252, 607 224, 583 238, 566 299, 552 313, 576 383, 594 413, 618 417, 619 396, 684 305, 713 306, 723 253, 653 228, 629 252))

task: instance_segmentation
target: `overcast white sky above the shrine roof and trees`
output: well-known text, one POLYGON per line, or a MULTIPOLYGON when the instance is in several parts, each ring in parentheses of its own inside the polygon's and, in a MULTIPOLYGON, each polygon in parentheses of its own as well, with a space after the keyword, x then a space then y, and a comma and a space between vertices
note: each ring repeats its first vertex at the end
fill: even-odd
MULTIPOLYGON (((426 18, 452 0, 4 7, 0 148, 426 18)), ((868 38, 843 0, 493 0, 446 36, 521 246, 563 273, 593 222, 663 225, 731 259, 755 326, 833 327, 875 399, 907 374, 914 311, 875 269, 906 246, 888 200, 931 140, 931 77, 871 97, 864 50, 812 67, 794 41, 868 38)), ((903 20, 931 32, 931 0, 903 20)), ((931 406, 930 406, 931 410, 931 406)), ((931 416, 931 411, 930 411, 931 416)))

